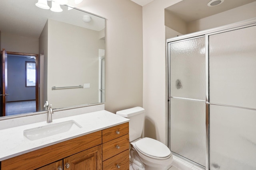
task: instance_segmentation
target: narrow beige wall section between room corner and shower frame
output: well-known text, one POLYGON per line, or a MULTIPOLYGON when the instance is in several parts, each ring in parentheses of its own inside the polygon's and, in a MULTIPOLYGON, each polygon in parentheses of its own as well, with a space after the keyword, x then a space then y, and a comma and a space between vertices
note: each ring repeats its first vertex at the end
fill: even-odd
POLYGON ((145 137, 166 143, 164 9, 181 0, 154 0, 143 6, 143 107, 145 137))

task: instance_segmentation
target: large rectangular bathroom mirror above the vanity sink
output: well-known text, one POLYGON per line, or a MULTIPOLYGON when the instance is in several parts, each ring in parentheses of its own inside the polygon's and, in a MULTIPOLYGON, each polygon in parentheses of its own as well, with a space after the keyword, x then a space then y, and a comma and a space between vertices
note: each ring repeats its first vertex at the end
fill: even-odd
MULTIPOLYGON (((46 101, 54 109, 104 102, 105 19, 70 8, 75 7, 74 0, 60 5, 62 12, 38 8, 35 5, 37 2, 38 0, 1 2, 0 47, 7 51, 8 86, 4 96, 5 113, 1 112, 0 115, 43 111, 46 101), (22 43, 18 42, 20 39, 22 43), (33 53, 38 55, 37 58, 31 52, 34 47, 26 45, 31 40, 35 42, 32 46, 39 46, 36 45, 38 52, 33 53), (26 64, 23 65, 15 58, 24 63, 37 63, 37 70, 28 69, 26 64), (18 68, 18 63, 22 71, 15 73, 9 70, 18 68), (26 71, 38 73, 38 86, 26 86, 23 83, 26 81, 36 84, 33 83, 33 78, 25 80, 26 77, 31 77, 26 71), (38 89, 38 94, 34 98, 24 98, 30 96, 30 92, 26 90, 36 93, 35 89, 38 89), (21 112, 18 113, 19 111, 21 112)), ((48 0, 47 3, 51 8, 52 1, 48 0)), ((1 111, 3 107, 2 105, 1 111)))

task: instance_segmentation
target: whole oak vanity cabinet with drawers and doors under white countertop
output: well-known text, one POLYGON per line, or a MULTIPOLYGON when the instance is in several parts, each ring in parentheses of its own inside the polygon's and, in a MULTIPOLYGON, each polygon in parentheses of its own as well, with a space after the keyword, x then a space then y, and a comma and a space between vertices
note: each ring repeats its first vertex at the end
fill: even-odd
POLYGON ((3 160, 0 170, 128 170, 128 133, 127 122, 3 160))

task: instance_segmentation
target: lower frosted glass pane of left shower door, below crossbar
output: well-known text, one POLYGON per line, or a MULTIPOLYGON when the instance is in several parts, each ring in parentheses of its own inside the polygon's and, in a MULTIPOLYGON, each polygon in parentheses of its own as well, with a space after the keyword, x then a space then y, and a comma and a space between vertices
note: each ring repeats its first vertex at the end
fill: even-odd
POLYGON ((205 102, 171 98, 170 149, 205 166, 205 102))

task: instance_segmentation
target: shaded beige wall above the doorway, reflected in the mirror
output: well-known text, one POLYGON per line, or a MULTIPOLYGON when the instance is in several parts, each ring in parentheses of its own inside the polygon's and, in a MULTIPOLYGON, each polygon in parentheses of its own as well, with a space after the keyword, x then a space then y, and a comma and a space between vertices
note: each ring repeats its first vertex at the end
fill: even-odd
POLYGON ((24 37, 2 32, 1 41, 1 46, 6 49, 6 51, 38 54, 38 38, 24 37))

